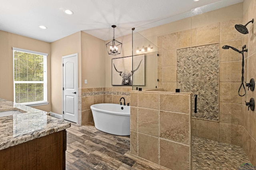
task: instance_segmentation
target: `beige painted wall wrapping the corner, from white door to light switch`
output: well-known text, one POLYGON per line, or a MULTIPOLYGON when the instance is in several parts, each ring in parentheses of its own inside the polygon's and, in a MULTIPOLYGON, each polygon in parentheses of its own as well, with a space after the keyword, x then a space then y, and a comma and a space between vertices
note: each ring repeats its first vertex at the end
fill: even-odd
POLYGON ((105 42, 79 31, 51 43, 52 112, 62 113, 62 57, 78 53, 78 88, 105 87, 105 42), (84 80, 88 84, 84 84, 84 80))

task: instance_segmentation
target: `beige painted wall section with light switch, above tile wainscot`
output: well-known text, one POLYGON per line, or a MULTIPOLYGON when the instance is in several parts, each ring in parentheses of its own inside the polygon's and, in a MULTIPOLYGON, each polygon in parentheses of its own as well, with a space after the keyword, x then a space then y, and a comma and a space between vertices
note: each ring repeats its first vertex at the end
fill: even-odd
POLYGON ((105 87, 105 52, 105 41, 81 32, 82 88, 105 87))

